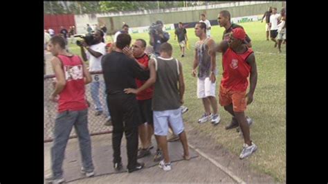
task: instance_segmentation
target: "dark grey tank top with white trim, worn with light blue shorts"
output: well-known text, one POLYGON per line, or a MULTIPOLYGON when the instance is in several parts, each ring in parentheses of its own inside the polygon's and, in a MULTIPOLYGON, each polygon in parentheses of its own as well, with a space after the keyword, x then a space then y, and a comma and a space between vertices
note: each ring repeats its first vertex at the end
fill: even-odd
POLYGON ((178 82, 179 62, 177 59, 156 57, 156 82, 152 98, 153 111, 179 109, 181 106, 178 82))

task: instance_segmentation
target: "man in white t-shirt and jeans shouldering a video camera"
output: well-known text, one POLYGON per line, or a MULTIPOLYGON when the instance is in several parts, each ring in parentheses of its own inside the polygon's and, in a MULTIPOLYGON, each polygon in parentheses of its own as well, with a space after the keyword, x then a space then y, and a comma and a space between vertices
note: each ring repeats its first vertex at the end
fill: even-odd
MULTIPOLYGON (((81 42, 82 45, 80 45, 80 48, 84 62, 89 58, 89 71, 102 71, 101 59, 106 54, 106 44, 102 42, 102 37, 104 37, 102 30, 96 30, 93 35, 93 43, 89 43, 91 45, 86 44, 85 40, 81 42), (86 52, 84 52, 84 48, 86 48, 86 52)), ((109 125, 111 116, 107 108, 107 102, 104 100, 104 109, 102 109, 99 99, 100 85, 104 86, 104 81, 100 81, 99 77, 94 77, 94 81, 90 84, 91 98, 95 103, 95 116, 100 116, 104 110, 104 115, 107 117, 105 125, 109 125)), ((106 98, 105 93, 104 98, 106 98)))

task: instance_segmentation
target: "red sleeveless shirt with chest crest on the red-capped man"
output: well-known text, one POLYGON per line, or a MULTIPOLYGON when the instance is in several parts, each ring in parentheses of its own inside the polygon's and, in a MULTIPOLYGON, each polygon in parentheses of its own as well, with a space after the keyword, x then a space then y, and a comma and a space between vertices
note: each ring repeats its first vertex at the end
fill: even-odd
POLYGON ((232 91, 246 91, 248 87, 247 77, 250 74, 250 66, 246 62, 247 57, 253 53, 248 48, 245 53, 237 54, 228 48, 223 55, 222 66, 224 68, 221 85, 232 91))

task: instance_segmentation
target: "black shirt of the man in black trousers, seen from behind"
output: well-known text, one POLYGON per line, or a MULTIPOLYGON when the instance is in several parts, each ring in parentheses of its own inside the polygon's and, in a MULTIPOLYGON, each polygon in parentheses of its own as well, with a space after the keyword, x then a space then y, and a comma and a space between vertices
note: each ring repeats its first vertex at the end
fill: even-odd
POLYGON ((108 95, 125 94, 125 88, 136 89, 136 78, 147 80, 149 71, 143 70, 136 60, 124 53, 113 51, 102 57, 102 72, 108 95))

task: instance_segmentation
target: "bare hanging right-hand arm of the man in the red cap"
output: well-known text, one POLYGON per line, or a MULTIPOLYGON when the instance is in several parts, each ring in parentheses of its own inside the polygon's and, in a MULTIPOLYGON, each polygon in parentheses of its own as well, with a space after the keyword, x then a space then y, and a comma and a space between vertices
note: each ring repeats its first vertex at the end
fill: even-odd
POLYGON ((248 56, 246 62, 250 65, 250 89, 246 94, 246 97, 248 98, 247 104, 250 104, 253 102, 253 95, 257 84, 257 66, 254 53, 248 56))

